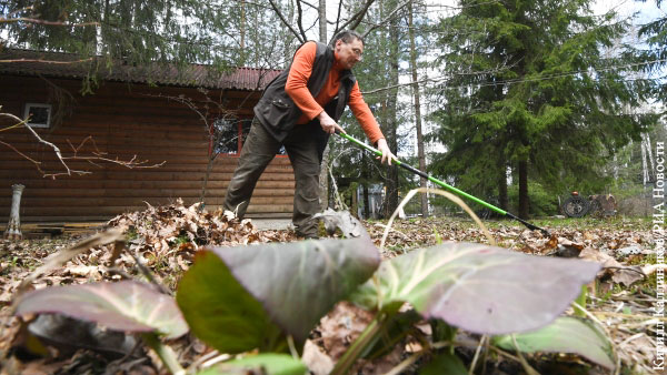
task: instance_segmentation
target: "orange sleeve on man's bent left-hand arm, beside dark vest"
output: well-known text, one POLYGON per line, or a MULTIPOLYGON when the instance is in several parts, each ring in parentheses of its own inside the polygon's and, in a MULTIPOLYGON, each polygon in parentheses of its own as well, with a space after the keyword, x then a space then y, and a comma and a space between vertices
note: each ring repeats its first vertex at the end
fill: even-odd
POLYGON ((308 79, 312 73, 316 51, 317 44, 315 42, 307 42, 297 50, 285 84, 285 92, 295 101, 308 120, 315 119, 323 111, 307 87, 308 79))

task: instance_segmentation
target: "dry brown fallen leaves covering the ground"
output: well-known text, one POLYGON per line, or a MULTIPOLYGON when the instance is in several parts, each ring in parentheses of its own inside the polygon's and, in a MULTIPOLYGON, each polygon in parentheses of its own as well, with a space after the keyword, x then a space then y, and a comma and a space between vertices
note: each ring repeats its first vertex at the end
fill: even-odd
MULTIPOLYGON (((371 239, 379 245, 385 226, 379 222, 364 223, 371 239)), ((83 252, 61 266, 49 270, 37 278, 31 287, 82 284, 99 280, 146 278, 150 275, 157 283, 173 291, 180 275, 205 244, 233 246, 261 242, 296 241, 291 231, 258 231, 251 221, 238 221, 223 212, 199 211, 198 205, 185 206, 178 201, 168 206, 148 206, 147 210, 119 215, 109 222, 109 227, 125 231, 123 245, 108 243, 83 252), (143 271, 142 271, 143 270, 143 271)), ((598 221, 590 225, 549 227, 550 237, 535 231, 524 230, 510 222, 492 223, 489 227, 498 244, 514 251, 547 256, 583 257, 600 262, 607 267, 600 273, 598 283, 589 296, 588 310, 607 327, 613 327, 617 353, 623 363, 635 369, 646 369, 647 358, 655 347, 657 321, 651 318, 655 290, 646 282, 655 272, 650 266, 655 246, 648 225, 635 223, 610 223, 598 221), (647 290, 647 287, 649 287, 647 290)), ((17 320, 9 310, 21 281, 48 262, 48 256, 62 251, 81 239, 62 237, 27 240, 19 243, 2 242, 0 245, 0 315, 3 337, 0 351, 7 353, 12 335, 18 330, 17 320)), ((384 257, 392 257, 411 249, 435 245, 440 241, 482 242, 487 240, 477 226, 467 220, 431 217, 399 220, 392 225, 384 257)), ((655 277, 655 276, 653 276, 655 277)), ((593 285, 591 285, 593 286, 593 285)), ((354 336, 362 330, 365 315, 355 306, 340 305, 313 331, 310 355, 323 372, 331 366, 340 353, 347 349, 354 336), (342 307, 340 307, 342 306, 342 307)), ((368 320, 368 318, 366 318, 368 320)), ((213 352, 200 342, 186 337, 170 343, 183 364, 210 357, 213 352)), ((307 351, 308 353, 308 351, 307 351)), ((401 359, 402 347, 388 357, 375 363, 361 364, 365 371, 382 371, 401 359)), ((69 359, 26 362, 20 366, 84 366, 90 354, 78 354, 69 359), (57 362, 60 361, 60 362, 57 362), (64 365, 62 364, 64 361, 64 365), (41 364, 41 365, 38 365, 41 364)), ((146 358, 146 357, 143 357, 146 358)), ((155 365, 155 363, 153 363, 155 365)), ((126 367, 128 364, 126 364, 126 367)), ((137 362, 143 368, 146 362, 137 362)), ((79 367, 77 367, 79 368, 79 367)), ((82 368, 82 367, 81 367, 82 368)))

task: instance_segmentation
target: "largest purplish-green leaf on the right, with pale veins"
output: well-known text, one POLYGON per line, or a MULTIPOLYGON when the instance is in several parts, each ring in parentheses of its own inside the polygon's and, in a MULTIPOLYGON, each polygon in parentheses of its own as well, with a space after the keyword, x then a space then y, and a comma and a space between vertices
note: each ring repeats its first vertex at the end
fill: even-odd
POLYGON ((382 262, 351 300, 371 310, 409 302, 426 318, 479 334, 525 332, 552 322, 599 267, 484 244, 448 243, 382 262))

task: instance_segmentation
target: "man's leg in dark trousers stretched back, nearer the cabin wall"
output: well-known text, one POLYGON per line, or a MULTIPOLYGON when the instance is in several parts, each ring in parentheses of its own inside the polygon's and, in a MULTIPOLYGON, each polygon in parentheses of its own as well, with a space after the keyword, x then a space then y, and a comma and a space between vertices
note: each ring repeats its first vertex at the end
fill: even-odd
POLYGON ((280 143, 263 129, 257 119, 252 120, 250 133, 241 150, 239 164, 227 188, 225 210, 236 212, 240 219, 246 215, 257 180, 279 149, 280 143))

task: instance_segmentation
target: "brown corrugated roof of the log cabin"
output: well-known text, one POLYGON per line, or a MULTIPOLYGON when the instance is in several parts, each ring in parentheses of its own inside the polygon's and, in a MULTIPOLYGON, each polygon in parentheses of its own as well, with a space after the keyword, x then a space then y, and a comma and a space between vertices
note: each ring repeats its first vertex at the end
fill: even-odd
POLYGON ((173 64, 132 67, 121 62, 108 69, 106 60, 99 58, 81 61, 72 53, 0 50, 0 74, 83 79, 98 63, 98 75, 102 80, 207 89, 262 90, 281 72, 276 69, 232 68, 220 73, 202 64, 190 64, 179 70, 173 64))

